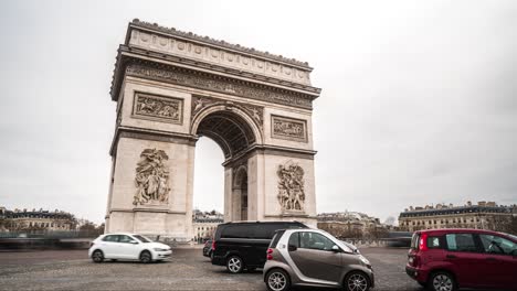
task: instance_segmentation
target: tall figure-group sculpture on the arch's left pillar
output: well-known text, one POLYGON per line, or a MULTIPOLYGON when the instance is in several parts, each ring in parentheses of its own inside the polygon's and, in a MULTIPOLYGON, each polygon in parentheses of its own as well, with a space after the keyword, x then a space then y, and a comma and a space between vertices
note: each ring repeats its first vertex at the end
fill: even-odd
POLYGON ((135 182, 137 193, 133 204, 168 204, 169 203, 169 171, 165 162, 169 157, 162 150, 146 149, 137 163, 135 182))

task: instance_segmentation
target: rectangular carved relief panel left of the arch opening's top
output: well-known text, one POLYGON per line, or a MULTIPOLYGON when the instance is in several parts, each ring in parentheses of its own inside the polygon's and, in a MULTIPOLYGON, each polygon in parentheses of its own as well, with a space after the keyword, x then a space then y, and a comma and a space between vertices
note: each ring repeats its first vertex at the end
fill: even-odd
POLYGON ((183 111, 183 100, 150 95, 145 93, 135 93, 133 106, 134 117, 151 118, 158 121, 181 123, 183 111))

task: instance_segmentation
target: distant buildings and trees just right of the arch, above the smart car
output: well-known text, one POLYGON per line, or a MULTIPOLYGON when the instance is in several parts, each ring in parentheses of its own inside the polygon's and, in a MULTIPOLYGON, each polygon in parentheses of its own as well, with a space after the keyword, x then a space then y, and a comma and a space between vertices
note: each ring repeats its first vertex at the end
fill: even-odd
POLYGON ((379 218, 357 212, 323 213, 317 220, 319 229, 338 238, 379 238, 389 228, 379 218))

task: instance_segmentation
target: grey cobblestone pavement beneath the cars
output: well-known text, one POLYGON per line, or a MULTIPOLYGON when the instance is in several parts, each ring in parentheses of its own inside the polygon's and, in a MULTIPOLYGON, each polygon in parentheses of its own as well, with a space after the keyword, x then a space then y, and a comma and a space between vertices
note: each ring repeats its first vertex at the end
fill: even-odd
MULTIPOLYGON (((421 291, 404 271, 407 249, 365 248, 379 291, 421 291)), ((201 249, 176 249, 168 262, 93 263, 86 250, 0 252, 0 290, 262 290, 262 271, 230 274, 201 249)), ((299 290, 315 290, 299 289, 299 290)), ((329 290, 329 289, 323 289, 329 290)))

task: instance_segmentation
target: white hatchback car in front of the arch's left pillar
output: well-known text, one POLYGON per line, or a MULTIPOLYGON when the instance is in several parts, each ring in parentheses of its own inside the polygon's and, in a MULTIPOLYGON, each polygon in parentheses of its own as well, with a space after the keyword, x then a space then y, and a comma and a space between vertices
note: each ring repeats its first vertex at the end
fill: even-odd
POLYGON ((169 246, 155 242, 149 238, 136 234, 105 234, 97 237, 88 250, 88 257, 94 262, 105 259, 140 260, 150 262, 163 260, 172 255, 169 246))

